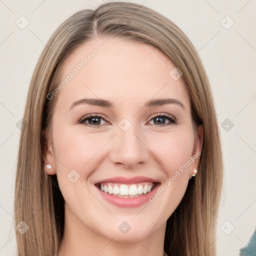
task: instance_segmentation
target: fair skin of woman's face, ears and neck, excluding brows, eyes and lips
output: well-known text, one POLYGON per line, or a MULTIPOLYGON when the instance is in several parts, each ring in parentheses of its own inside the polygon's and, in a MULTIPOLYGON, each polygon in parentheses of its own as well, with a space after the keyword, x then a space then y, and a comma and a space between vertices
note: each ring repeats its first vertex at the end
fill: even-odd
POLYGON ((57 174, 65 200, 58 256, 162 256, 166 220, 182 199, 199 157, 154 202, 139 207, 110 204, 93 183, 114 176, 146 176, 165 184, 179 166, 201 151, 202 126, 193 129, 182 76, 174 80, 169 75, 175 65, 145 43, 94 37, 67 57, 60 80, 94 48, 99 50, 95 57, 55 95, 51 129, 45 131, 44 165, 52 165, 45 172, 57 174), (69 109, 81 98, 102 98, 113 106, 79 104, 69 109), (146 101, 160 98, 175 98, 184 108, 175 103, 143 107, 146 101), (157 124, 154 120, 160 113, 178 122, 165 118, 157 124), (94 126, 78 122, 88 114, 102 115, 99 127, 91 119, 85 123, 94 126), (131 124, 126 131, 118 126, 123 118, 131 124), (72 169, 80 175, 74 183, 67 178, 72 169), (123 221, 131 226, 125 234, 118 229, 123 221))

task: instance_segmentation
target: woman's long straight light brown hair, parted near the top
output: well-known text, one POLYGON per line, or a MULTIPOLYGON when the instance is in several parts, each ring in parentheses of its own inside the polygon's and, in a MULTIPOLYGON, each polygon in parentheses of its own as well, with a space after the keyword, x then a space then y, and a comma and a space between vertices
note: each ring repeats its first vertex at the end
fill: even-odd
POLYGON ((203 145, 196 177, 167 220, 164 250, 170 255, 216 255, 215 232, 222 186, 222 153, 209 81, 190 40, 158 12, 128 2, 108 2, 74 13, 53 33, 33 72, 23 115, 15 180, 15 225, 18 256, 57 255, 64 227, 64 199, 56 175, 44 172, 43 130, 49 128, 67 55, 94 36, 121 36, 148 43, 164 52, 182 71, 193 121, 203 125, 203 145))

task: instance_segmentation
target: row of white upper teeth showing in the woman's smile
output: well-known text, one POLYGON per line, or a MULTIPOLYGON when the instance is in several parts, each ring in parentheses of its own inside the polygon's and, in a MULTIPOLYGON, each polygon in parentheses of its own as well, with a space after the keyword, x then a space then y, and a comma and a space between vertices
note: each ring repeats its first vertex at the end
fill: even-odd
POLYGON ((152 190, 153 184, 150 183, 143 183, 142 184, 131 184, 131 185, 126 185, 126 184, 113 184, 113 183, 103 183, 100 184, 100 190, 104 191, 105 193, 108 194, 114 194, 120 197, 134 197, 138 196, 140 194, 146 194, 152 190))

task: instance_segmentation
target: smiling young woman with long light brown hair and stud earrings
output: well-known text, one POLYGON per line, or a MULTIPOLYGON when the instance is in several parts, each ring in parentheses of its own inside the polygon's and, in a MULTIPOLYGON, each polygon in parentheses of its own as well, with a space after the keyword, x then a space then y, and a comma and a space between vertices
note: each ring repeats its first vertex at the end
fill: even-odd
POLYGON ((216 113, 169 19, 127 2, 73 14, 37 62, 23 118, 18 255, 216 255, 216 113))

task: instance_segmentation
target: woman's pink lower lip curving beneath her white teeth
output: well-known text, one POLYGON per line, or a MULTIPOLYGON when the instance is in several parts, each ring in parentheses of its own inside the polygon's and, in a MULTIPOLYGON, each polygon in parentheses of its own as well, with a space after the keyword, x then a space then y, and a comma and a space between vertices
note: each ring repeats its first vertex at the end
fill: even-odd
POLYGON ((99 191, 101 196, 106 201, 110 202, 111 204, 113 204, 115 206, 134 208, 134 207, 138 207, 138 206, 146 203, 147 201, 149 201, 149 197, 155 193, 155 191, 157 190, 157 188, 159 186, 160 186, 160 183, 157 183, 155 185, 155 187, 149 193, 142 194, 140 196, 133 197, 133 198, 123 198, 123 197, 119 197, 116 195, 108 194, 108 193, 101 191, 98 187, 97 187, 97 190, 99 191))

